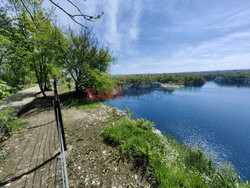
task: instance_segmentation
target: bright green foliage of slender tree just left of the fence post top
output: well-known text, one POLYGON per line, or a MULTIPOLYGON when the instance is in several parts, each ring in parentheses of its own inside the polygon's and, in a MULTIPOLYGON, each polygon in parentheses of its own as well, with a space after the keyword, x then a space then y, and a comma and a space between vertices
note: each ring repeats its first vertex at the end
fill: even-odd
POLYGON ((49 79, 60 72, 62 54, 59 43, 65 38, 62 31, 53 25, 51 15, 44 12, 41 4, 35 3, 33 11, 36 24, 31 19, 23 19, 33 49, 29 60, 41 92, 46 96, 45 91, 51 86, 49 79))

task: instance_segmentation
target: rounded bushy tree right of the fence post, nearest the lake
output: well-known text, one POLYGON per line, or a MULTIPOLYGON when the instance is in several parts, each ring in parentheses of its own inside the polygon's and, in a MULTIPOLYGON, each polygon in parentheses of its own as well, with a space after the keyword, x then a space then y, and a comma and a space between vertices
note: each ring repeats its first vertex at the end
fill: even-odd
POLYGON ((64 69, 75 81, 76 92, 86 92, 86 88, 104 92, 112 89, 114 82, 108 72, 115 59, 108 48, 99 47, 89 32, 77 35, 70 31, 69 36, 69 42, 64 46, 64 69))

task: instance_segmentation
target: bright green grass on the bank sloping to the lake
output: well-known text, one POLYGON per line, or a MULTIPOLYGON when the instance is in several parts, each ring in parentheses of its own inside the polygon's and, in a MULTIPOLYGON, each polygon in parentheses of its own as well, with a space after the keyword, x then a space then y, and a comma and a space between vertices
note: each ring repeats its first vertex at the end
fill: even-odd
POLYGON ((201 148, 158 135, 153 126, 145 119, 124 117, 116 125, 107 126, 102 137, 107 144, 119 148, 122 158, 142 169, 154 187, 250 187, 232 165, 218 167, 201 148))

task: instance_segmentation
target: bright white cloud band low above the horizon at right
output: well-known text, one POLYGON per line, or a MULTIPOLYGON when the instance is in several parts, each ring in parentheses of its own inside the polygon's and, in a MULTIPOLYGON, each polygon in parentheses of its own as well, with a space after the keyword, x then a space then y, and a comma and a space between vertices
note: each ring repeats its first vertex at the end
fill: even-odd
MULTIPOLYGON (((164 73, 250 68, 250 31, 185 45, 169 57, 138 58, 123 73, 164 73)), ((114 69, 115 70, 115 69, 114 69)))

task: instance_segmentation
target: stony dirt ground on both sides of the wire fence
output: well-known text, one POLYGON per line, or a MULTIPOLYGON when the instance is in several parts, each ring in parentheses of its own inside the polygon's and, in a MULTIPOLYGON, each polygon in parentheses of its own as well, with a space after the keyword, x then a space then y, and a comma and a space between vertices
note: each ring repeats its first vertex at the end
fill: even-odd
MULTIPOLYGON (((70 187, 149 187, 132 163, 122 161, 100 133, 112 110, 62 108, 70 187)), ((35 99, 20 116, 29 126, 0 149, 0 186, 62 187, 58 134, 51 99, 35 99)))

